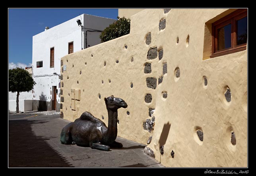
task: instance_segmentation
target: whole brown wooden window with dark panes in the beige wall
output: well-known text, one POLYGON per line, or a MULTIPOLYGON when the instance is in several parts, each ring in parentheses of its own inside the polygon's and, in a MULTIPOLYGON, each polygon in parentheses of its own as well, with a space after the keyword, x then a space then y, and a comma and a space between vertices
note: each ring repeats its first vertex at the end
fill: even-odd
POLYGON ((246 50, 247 9, 239 9, 212 24, 210 58, 246 50))

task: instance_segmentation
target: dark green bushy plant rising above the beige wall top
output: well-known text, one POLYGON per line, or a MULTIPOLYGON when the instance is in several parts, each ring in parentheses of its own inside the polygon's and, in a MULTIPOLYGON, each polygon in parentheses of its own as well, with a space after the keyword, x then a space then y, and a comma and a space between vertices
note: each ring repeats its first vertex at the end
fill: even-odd
POLYGON ((102 31, 99 36, 102 43, 130 33, 131 20, 129 18, 126 19, 125 17, 117 17, 117 19, 117 21, 102 31))

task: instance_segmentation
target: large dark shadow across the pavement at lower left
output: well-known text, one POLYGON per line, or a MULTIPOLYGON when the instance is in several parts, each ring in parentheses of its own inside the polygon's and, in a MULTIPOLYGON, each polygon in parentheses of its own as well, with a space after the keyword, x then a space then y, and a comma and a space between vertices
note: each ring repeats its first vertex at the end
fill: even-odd
POLYGON ((47 121, 9 121, 9 167, 72 167, 64 157, 47 143, 47 138, 36 136, 31 128, 47 121))

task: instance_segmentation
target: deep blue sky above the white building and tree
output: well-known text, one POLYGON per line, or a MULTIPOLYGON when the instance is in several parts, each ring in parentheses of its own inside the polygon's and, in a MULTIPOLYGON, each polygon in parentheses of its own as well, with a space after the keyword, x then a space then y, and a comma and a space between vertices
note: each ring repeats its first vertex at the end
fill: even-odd
POLYGON ((80 14, 117 19, 118 9, 9 9, 9 69, 32 63, 32 36, 80 14))

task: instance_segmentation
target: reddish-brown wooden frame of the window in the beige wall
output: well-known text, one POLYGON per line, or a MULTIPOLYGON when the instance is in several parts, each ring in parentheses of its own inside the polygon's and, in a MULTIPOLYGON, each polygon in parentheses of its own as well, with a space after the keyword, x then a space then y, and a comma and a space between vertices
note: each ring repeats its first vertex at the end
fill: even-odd
POLYGON ((247 9, 236 10, 229 15, 212 23, 212 54, 210 58, 222 55, 232 54, 246 50, 247 43, 237 45, 237 21, 247 16, 247 9), (231 47, 217 51, 218 47, 218 29, 231 24, 231 47))

